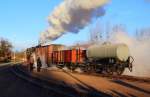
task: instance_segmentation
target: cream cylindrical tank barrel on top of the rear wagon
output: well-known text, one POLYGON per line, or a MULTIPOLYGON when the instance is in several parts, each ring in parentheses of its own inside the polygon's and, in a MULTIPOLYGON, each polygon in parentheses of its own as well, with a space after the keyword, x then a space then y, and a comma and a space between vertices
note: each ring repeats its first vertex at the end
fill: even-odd
POLYGON ((87 49, 88 58, 118 58, 126 61, 129 57, 129 49, 126 44, 103 44, 93 45, 87 49))

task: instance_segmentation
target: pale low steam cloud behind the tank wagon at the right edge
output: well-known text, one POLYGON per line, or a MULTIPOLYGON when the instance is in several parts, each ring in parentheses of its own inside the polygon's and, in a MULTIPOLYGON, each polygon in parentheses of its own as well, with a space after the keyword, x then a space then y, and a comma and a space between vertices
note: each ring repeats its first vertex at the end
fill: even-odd
POLYGON ((126 70, 124 74, 150 77, 150 36, 144 35, 137 39, 126 32, 118 31, 112 34, 110 40, 115 43, 126 43, 131 56, 134 57, 133 72, 126 70))

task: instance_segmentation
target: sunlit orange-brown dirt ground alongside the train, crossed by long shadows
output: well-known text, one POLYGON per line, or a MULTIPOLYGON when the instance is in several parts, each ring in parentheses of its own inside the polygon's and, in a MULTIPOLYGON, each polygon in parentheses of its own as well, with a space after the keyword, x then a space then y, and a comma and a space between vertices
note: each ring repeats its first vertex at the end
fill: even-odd
POLYGON ((55 83, 67 84, 81 92, 92 90, 90 92, 98 91, 116 97, 150 97, 150 83, 108 79, 55 68, 42 69, 41 72, 34 70, 33 75, 55 83))

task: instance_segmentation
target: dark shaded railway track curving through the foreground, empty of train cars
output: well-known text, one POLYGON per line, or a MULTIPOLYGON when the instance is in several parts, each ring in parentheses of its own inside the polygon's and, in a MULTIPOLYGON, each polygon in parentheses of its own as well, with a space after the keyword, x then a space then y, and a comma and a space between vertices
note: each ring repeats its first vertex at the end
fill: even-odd
MULTIPOLYGON (((31 84, 40 87, 47 91, 46 94, 53 94, 52 97, 91 97, 87 96, 87 94, 79 93, 75 89, 69 86, 61 86, 59 84, 55 83, 50 83, 47 80, 40 79, 38 77, 33 77, 26 71, 24 71, 21 67, 19 66, 13 66, 11 71, 19 78, 30 82, 31 84), (84 95, 84 96, 83 96, 84 95)), ((48 95, 46 97, 49 97, 48 95)))

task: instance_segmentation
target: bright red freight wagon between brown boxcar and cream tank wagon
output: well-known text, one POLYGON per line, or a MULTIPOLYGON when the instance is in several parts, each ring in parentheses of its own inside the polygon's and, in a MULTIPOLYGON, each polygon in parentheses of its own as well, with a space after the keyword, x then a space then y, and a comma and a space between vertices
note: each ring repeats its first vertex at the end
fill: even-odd
POLYGON ((83 49, 71 49, 54 51, 52 53, 52 63, 56 66, 63 68, 67 67, 71 70, 75 70, 77 67, 81 67, 86 61, 86 50, 83 49))

